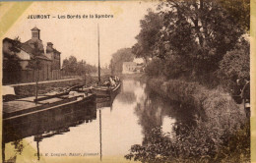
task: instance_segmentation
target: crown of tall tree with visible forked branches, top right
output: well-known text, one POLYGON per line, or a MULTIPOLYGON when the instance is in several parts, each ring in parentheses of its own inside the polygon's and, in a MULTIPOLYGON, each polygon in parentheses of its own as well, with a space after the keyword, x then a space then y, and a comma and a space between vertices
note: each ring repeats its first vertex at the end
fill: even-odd
POLYGON ((162 34, 167 36, 160 44, 168 41, 175 54, 186 55, 196 72, 216 71, 226 51, 244 33, 217 1, 169 0, 160 9, 166 5, 170 10, 161 14, 166 28, 162 34))

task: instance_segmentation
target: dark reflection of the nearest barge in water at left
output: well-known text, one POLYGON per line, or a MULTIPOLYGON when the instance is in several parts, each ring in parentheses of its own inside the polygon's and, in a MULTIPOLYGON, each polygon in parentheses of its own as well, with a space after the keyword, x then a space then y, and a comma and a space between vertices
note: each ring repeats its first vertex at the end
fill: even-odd
POLYGON ((58 108, 47 110, 20 118, 5 120, 3 122, 3 162, 5 161, 5 144, 11 142, 14 145, 13 156, 6 160, 16 160, 22 155, 24 149, 23 138, 33 136, 36 142, 37 159, 39 160, 39 142, 44 138, 56 135, 64 135, 70 132, 70 127, 78 127, 84 123, 96 120, 96 104, 89 103, 85 108, 58 108))

